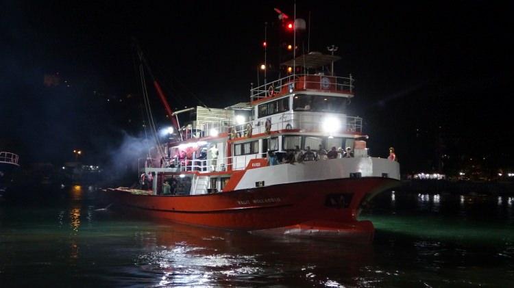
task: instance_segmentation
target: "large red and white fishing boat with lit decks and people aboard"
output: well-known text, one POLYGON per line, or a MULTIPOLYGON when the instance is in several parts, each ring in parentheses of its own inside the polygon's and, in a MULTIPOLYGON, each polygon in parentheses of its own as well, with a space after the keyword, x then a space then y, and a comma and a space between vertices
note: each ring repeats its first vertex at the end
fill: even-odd
MULTIPOLYGON (((139 56, 140 75, 146 67, 153 78, 139 56)), ((153 79, 173 137, 140 160, 140 187, 106 194, 119 207, 182 224, 371 239, 374 226, 358 221, 360 208, 399 185, 400 165, 369 155, 363 119, 347 115, 354 78, 329 68, 340 59, 294 55, 281 63, 285 76, 229 107, 172 112, 153 79)))

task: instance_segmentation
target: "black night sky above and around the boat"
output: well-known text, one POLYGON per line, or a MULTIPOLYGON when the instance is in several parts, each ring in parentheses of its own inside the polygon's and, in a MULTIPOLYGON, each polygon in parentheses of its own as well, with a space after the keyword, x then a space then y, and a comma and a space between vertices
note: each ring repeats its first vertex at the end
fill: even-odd
MULTIPOLYGON (((101 162, 123 133, 140 132, 132 37, 173 107, 196 105, 193 95, 225 107, 249 97, 273 8, 293 14, 293 1, 36 2, 2 2, 0 12, 0 143, 25 163, 68 161, 73 148, 101 162), (70 87, 43 86, 52 73, 70 87)), ((402 170, 419 170, 434 166, 437 146, 512 161, 512 8, 297 1, 297 16, 310 11, 310 50, 335 44, 336 73, 356 78, 350 114, 364 118, 372 155, 395 146, 402 170)))

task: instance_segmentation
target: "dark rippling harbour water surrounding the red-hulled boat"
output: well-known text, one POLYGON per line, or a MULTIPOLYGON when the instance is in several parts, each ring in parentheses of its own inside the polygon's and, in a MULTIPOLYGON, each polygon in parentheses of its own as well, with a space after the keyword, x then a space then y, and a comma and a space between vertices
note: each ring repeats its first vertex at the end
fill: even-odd
POLYGON ((0 202, 0 286, 509 287, 514 197, 384 193, 372 244, 265 237, 102 209, 94 187, 0 202))

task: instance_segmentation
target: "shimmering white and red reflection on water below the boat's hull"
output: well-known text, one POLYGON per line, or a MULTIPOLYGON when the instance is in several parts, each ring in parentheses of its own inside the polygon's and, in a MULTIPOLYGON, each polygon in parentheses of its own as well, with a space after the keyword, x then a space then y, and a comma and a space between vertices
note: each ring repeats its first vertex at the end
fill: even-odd
POLYGON ((360 267, 373 259, 369 245, 256 236, 169 222, 135 237, 147 250, 136 259, 138 274, 153 275, 157 285, 252 287, 270 280, 277 285, 305 285, 307 280, 339 287, 338 278, 355 278, 352 285, 359 285, 360 267), (337 278, 326 274, 319 278, 319 263, 340 267, 334 273, 337 278))

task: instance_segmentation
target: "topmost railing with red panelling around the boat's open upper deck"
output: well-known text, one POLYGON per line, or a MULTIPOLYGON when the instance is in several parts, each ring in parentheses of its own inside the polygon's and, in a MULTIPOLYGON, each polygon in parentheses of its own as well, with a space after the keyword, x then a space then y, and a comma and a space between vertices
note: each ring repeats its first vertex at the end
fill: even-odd
POLYGON ((252 88, 250 100, 256 101, 274 94, 294 92, 297 90, 326 90, 327 92, 353 92, 354 79, 350 77, 336 77, 327 75, 297 74, 252 88))

